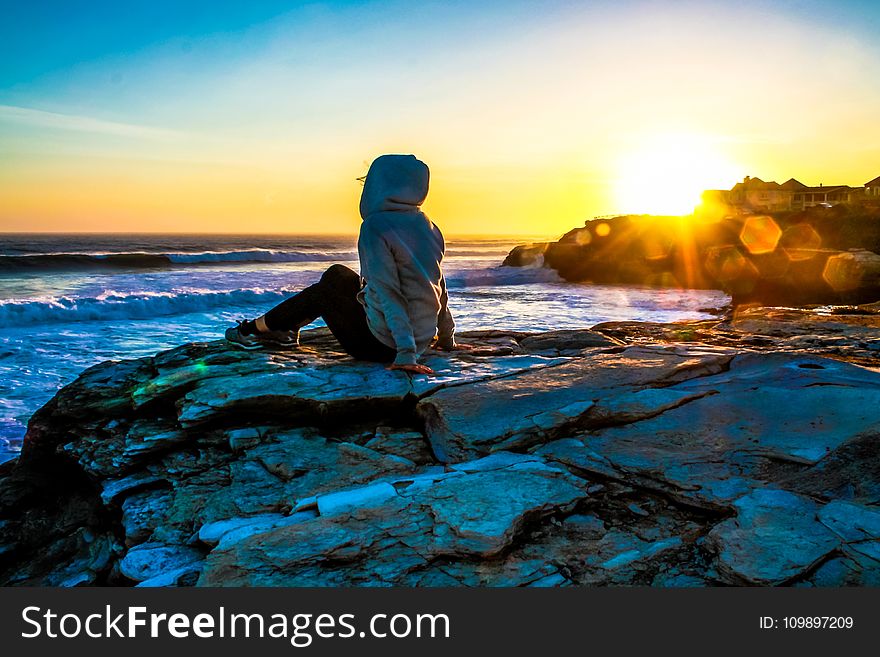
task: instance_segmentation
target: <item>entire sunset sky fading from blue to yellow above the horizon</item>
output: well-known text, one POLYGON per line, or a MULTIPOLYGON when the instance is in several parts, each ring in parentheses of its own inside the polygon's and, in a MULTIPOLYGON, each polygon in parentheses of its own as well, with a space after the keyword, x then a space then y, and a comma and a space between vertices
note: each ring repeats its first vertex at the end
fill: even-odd
POLYGON ((0 0, 0 231, 447 234, 880 175, 880 3, 0 0))

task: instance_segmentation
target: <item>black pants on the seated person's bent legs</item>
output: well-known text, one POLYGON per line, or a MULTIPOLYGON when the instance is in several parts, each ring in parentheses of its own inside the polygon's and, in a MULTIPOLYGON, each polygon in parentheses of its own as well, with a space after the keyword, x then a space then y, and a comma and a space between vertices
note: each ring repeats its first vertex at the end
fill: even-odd
POLYGON ((397 352, 370 331, 367 313, 357 300, 360 288, 361 279, 355 272, 343 265, 331 265, 317 283, 267 312, 266 326, 272 331, 295 331, 321 317, 349 355, 390 363, 397 352))

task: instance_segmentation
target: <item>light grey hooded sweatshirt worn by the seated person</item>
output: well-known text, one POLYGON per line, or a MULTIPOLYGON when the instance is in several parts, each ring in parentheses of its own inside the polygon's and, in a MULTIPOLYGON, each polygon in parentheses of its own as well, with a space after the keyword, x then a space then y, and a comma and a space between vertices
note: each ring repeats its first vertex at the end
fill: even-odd
POLYGON ((440 269, 446 245, 419 209, 428 195, 428 167, 413 155, 382 155, 361 194, 358 255, 364 287, 358 299, 380 342, 397 350, 395 364, 413 364, 435 336, 454 345, 455 323, 440 269))

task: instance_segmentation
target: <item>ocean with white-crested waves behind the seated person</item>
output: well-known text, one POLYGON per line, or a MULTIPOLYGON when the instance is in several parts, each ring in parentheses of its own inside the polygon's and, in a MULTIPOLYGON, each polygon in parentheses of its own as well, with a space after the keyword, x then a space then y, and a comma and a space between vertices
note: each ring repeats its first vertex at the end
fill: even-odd
MULTIPOLYGON (((524 241, 447 238, 459 330, 699 319, 729 301, 711 290, 577 285, 540 267, 501 267, 524 241)), ((334 262, 357 270, 354 237, 0 234, 0 462, 20 449, 31 414, 83 369, 217 339, 334 262)))

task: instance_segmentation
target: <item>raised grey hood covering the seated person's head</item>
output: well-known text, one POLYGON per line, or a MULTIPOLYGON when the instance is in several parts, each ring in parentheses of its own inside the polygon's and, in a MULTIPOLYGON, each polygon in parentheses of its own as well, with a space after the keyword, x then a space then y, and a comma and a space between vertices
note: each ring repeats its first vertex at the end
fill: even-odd
POLYGON ((428 165, 415 155, 381 155, 373 160, 361 193, 361 218, 377 212, 413 212, 428 195, 428 165))

